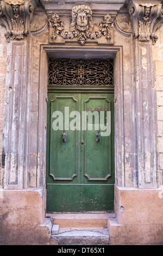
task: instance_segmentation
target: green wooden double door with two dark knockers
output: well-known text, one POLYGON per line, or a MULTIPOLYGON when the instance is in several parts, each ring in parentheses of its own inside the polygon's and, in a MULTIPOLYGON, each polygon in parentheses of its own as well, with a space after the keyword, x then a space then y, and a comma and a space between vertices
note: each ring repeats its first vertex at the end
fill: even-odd
POLYGON ((113 93, 48 93, 46 182, 47 212, 114 211, 113 93))

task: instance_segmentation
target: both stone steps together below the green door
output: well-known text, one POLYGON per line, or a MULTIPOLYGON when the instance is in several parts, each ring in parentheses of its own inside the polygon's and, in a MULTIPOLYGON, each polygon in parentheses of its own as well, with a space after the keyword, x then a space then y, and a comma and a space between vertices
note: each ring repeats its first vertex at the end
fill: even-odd
POLYGON ((55 245, 109 245, 108 218, 106 213, 57 213, 51 217, 53 228, 51 244, 55 245))

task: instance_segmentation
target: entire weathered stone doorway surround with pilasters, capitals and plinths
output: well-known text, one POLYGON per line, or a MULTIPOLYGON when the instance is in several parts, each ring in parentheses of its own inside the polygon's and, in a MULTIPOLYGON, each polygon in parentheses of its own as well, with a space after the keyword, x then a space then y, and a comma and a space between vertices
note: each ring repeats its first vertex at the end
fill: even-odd
POLYGON ((63 21, 68 29, 74 1, 40 2, 6 0, 0 5, 8 59, 0 242, 49 244, 51 238, 45 181, 48 58, 105 56, 114 58, 115 74, 115 215, 108 218, 110 244, 161 244, 162 184, 152 60, 155 32, 162 25, 161 1, 84 0, 93 11, 96 29, 104 15, 114 21, 109 39, 90 33, 84 43, 49 27, 48 20, 57 13, 58 27, 63 21), (22 31, 14 30, 17 22, 22 31), (51 33, 57 36, 54 41, 51 33))

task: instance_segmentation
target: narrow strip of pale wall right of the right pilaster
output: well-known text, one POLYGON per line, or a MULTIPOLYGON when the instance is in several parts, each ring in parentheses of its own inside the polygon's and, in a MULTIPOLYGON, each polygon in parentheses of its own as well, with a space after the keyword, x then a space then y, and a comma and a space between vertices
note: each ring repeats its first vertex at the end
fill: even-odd
POLYGON ((163 27, 157 35, 158 41, 153 46, 153 59, 155 60, 155 84, 157 92, 158 108, 158 168, 160 173, 160 185, 163 185, 163 27))

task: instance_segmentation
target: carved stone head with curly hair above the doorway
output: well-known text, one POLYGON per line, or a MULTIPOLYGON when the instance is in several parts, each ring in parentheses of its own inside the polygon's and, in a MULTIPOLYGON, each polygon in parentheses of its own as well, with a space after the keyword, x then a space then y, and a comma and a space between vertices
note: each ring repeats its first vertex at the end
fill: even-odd
POLYGON ((86 31, 93 29, 92 10, 87 5, 77 5, 72 8, 72 23, 71 30, 78 29, 86 31))

